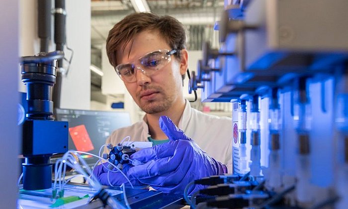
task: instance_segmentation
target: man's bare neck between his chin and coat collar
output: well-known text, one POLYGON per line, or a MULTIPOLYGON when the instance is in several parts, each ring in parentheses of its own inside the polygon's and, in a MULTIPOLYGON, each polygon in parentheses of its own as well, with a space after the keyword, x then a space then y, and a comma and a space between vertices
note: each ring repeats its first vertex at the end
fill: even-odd
POLYGON ((166 111, 158 112, 155 114, 146 114, 146 118, 148 120, 148 125, 149 125, 149 133, 151 135, 151 138, 168 139, 168 137, 162 131, 158 123, 160 116, 162 115, 168 116, 169 118, 173 120, 174 124, 178 126, 184 108, 185 108, 185 100, 183 100, 183 102, 180 102, 178 104, 177 103, 174 104, 171 108, 169 108, 166 111))

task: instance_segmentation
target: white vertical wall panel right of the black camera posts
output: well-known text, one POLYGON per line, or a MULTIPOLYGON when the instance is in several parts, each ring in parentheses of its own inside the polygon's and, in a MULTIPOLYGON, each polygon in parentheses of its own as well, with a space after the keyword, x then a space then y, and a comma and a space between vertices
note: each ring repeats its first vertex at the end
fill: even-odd
MULTIPOLYGON (((74 50, 62 82, 61 108, 90 107, 90 0, 66 0, 67 45, 74 50)), ((68 53, 68 52, 67 52, 68 53)))

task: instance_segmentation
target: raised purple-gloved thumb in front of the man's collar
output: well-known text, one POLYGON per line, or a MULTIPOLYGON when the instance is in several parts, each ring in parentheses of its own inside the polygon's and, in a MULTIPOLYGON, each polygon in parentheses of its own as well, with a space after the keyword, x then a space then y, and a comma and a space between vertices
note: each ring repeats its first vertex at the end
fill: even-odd
POLYGON ((176 127, 176 125, 171 120, 171 118, 163 115, 159 119, 159 124, 162 131, 168 136, 170 140, 172 141, 177 139, 191 140, 189 137, 185 135, 185 133, 182 130, 176 127))

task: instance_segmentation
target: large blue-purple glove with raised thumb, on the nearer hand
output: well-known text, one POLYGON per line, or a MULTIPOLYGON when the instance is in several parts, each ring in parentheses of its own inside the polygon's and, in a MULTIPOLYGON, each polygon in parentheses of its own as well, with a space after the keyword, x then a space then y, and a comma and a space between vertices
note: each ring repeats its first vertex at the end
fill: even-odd
MULTIPOLYGON (((137 179, 165 193, 182 194, 186 185, 193 180, 227 173, 225 165, 201 150, 170 118, 161 116, 159 122, 170 141, 131 155, 131 159, 143 164, 128 170, 130 179, 137 179)), ((200 185, 191 187, 188 194, 201 188, 203 186, 200 185)))

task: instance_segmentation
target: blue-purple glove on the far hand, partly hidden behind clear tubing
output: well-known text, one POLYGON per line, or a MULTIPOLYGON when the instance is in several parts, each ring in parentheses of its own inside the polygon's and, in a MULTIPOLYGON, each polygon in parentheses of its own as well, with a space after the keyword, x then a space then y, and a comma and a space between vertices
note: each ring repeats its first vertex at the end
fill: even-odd
MULTIPOLYGON (((110 185, 109 182, 107 181, 107 172, 108 170, 106 169, 108 166, 108 163, 103 163, 103 165, 98 165, 94 168, 93 174, 94 176, 99 180, 100 184, 102 185, 110 185), (104 165, 104 166, 103 166, 104 165)), ((123 169, 122 172, 126 174, 127 176, 127 171, 129 168, 133 167, 131 164, 123 164, 123 169)), ((113 168, 112 171, 116 171, 116 168, 113 168)), ((126 186, 129 186, 129 182, 126 180, 126 178, 120 173, 120 172, 109 172, 109 180, 110 183, 113 186, 121 186, 121 184, 125 184, 126 186)), ((139 181, 132 179, 130 180, 133 186, 139 186, 143 185, 139 181)))

